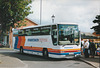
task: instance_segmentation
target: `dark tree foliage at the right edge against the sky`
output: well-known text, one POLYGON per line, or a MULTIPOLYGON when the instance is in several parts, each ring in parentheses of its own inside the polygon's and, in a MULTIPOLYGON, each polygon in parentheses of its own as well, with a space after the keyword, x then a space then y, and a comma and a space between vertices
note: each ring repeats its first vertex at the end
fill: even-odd
POLYGON ((96 34, 100 34, 100 15, 97 15, 95 18, 96 19, 93 20, 93 23, 97 23, 97 25, 93 26, 91 29, 94 29, 96 34))

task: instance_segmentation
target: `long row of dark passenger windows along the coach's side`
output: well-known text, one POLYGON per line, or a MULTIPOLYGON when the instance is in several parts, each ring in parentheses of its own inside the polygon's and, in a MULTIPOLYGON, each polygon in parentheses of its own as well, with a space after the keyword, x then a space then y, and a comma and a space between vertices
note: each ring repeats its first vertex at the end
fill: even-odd
POLYGON ((42 26, 19 30, 19 36, 50 35, 51 26, 42 26))

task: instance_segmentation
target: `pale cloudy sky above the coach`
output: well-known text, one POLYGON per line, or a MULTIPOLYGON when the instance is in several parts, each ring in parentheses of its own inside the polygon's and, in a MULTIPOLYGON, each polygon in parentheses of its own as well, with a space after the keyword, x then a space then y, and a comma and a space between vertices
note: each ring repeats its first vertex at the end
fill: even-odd
POLYGON ((72 22, 79 25, 81 32, 94 32, 90 28, 96 24, 92 21, 100 15, 100 0, 33 0, 32 14, 28 18, 40 24, 40 2, 42 1, 41 24, 72 22))

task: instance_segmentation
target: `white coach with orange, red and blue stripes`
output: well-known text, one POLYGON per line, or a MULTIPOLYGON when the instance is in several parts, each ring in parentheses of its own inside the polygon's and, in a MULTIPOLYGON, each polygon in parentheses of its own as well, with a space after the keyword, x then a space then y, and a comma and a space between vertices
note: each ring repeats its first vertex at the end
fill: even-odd
POLYGON ((14 37, 14 49, 43 57, 81 56, 80 31, 75 23, 53 23, 25 27, 14 37))

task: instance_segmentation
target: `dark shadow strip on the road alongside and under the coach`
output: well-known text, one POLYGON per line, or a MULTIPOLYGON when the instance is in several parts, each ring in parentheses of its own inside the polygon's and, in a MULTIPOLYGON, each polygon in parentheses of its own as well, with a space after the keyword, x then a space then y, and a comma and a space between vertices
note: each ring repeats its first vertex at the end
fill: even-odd
POLYGON ((42 56, 37 56, 37 55, 32 55, 32 54, 26 54, 26 53, 20 54, 19 52, 15 52, 13 50, 12 51, 10 51, 10 50, 2 51, 2 52, 0 52, 0 54, 2 54, 4 56, 9 56, 9 57, 15 57, 22 61, 67 61, 67 60, 80 61, 78 59, 44 58, 42 56))

